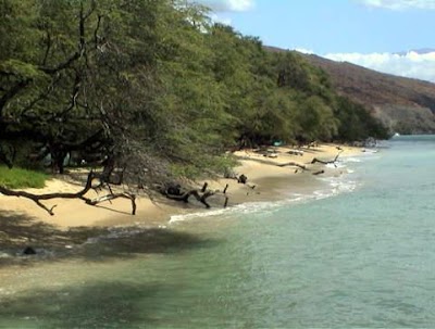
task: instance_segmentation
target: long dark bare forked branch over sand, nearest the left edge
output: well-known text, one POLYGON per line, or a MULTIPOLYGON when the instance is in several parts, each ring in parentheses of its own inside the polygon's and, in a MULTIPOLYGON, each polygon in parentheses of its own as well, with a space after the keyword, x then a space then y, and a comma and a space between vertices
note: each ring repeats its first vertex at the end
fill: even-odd
POLYGON ((34 193, 28 193, 25 191, 10 190, 2 186, 0 186, 0 193, 2 193, 4 195, 9 195, 9 197, 18 197, 18 198, 29 199, 29 200, 34 201, 38 206, 44 208, 46 212, 48 212, 51 216, 54 215, 53 208, 57 205, 48 207, 41 201, 51 200, 51 199, 80 199, 86 204, 97 205, 98 203, 101 203, 104 201, 111 201, 111 200, 117 199, 117 198, 125 198, 125 199, 129 199, 132 201, 132 215, 136 214, 136 195, 132 194, 132 193, 127 193, 127 192, 113 193, 112 190, 110 189, 110 193, 107 195, 96 198, 96 199, 86 198, 85 194, 90 189, 94 189, 92 179, 95 179, 95 178, 100 178, 99 174, 96 174, 91 170, 87 177, 85 187, 83 188, 82 191, 78 191, 76 193, 61 193, 60 192, 60 193, 34 194, 34 193))

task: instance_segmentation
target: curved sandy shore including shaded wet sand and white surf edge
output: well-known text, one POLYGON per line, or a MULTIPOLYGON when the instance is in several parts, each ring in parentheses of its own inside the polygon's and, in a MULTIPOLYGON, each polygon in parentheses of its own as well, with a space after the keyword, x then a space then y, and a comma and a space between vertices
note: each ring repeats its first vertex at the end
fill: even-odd
MULTIPOLYGON (((161 252, 166 248, 183 249, 186 243, 201 243, 201 237, 190 233, 189 228, 173 227, 174 223, 187 219, 189 226, 191 224, 195 227, 196 220, 190 219, 231 215, 234 212, 251 213, 286 203, 327 198, 335 193, 332 181, 339 185, 337 179, 347 176, 346 167, 315 164, 310 165, 310 170, 296 173, 295 167, 279 167, 277 164, 296 160, 307 164, 313 156, 334 159, 336 148, 334 144, 320 145, 299 157, 289 154, 287 148, 281 148, 277 157, 273 159, 252 151, 236 153, 240 165, 235 172, 248 176, 248 185, 254 185, 256 188, 237 184, 234 179, 209 181, 211 189, 222 189, 229 185, 227 193, 231 202, 226 208, 214 206, 204 210, 197 204, 185 206, 166 199, 151 201, 139 198, 137 215, 132 216, 127 213, 128 201, 124 200, 116 200, 104 207, 88 206, 78 200, 55 200, 55 215, 49 216, 28 200, 0 195, 0 215, 3 217, 0 222, 1 275, 13 282, 12 278, 18 270, 16 265, 39 264, 45 267, 52 264, 47 261, 75 262, 77 257, 83 257, 83 262, 97 258, 110 263, 137 253, 161 252), (312 173, 320 168, 325 173, 313 176, 312 173), (27 245, 37 251, 36 257, 23 256, 22 251, 27 245)), ((358 148, 343 148, 345 151, 340 156, 351 159, 349 156, 362 155, 358 148)), ((44 192, 59 188, 70 191, 79 187, 57 179, 49 181, 44 192)))

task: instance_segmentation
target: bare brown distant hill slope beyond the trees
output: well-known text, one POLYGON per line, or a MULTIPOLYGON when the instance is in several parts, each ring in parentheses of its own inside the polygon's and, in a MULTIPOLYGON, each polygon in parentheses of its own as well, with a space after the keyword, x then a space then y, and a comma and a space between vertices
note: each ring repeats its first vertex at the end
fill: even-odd
MULTIPOLYGON (((266 49, 285 51, 274 47, 266 49)), ((435 84, 300 54, 330 74, 338 93, 364 104, 393 131, 435 134, 435 84)))

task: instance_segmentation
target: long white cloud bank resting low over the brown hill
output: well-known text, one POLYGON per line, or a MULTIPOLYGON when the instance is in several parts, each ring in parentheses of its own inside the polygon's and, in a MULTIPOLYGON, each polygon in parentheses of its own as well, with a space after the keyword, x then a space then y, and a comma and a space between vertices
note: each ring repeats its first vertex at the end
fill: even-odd
POLYGON ((324 58, 350 62, 383 73, 435 83, 435 51, 394 53, 328 53, 324 58))

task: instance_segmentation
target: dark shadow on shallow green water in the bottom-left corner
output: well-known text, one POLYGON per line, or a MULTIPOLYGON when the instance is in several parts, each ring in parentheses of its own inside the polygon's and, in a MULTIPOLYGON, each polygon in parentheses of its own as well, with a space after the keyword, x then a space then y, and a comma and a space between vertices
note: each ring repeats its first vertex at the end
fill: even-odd
POLYGON ((92 282, 2 298, 1 328, 152 328, 174 287, 92 282), (163 298, 161 296, 163 295, 163 298), (160 301, 160 299, 162 301, 160 301))

